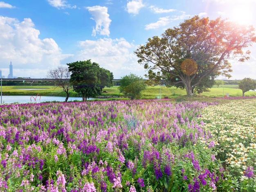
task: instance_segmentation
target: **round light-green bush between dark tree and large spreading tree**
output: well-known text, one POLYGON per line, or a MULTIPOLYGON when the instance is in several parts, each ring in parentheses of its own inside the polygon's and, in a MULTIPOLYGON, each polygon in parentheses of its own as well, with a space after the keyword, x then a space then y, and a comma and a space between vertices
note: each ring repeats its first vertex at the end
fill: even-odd
POLYGON ((122 77, 120 84, 120 92, 130 99, 140 98, 141 92, 146 89, 146 84, 143 78, 136 76, 135 74, 122 77))

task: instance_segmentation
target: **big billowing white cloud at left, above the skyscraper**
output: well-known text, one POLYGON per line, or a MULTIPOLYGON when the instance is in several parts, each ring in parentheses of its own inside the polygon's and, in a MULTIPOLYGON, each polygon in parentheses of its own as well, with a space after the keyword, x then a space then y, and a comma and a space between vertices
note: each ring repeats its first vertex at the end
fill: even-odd
MULTIPOLYGON (((12 60, 13 69, 18 71, 49 70, 71 56, 62 54, 52 38, 40 39, 39 34, 40 31, 35 28, 30 18, 20 22, 15 18, 0 16, 0 67, 8 67, 12 60)), ((40 77, 44 75, 41 74, 40 77)))

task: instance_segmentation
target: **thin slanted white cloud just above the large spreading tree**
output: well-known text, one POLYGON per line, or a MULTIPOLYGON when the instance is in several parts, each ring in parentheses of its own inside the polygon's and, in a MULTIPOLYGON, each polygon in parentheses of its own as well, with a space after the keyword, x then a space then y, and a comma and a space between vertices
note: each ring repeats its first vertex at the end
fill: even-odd
POLYGON ((146 30, 149 30, 149 29, 159 29, 160 27, 165 27, 165 26, 169 25, 172 21, 182 20, 182 19, 188 18, 189 16, 190 15, 187 15, 184 11, 182 11, 182 15, 180 15, 180 16, 160 17, 157 22, 153 22, 153 23, 150 23, 148 25, 145 25, 145 29, 146 30))

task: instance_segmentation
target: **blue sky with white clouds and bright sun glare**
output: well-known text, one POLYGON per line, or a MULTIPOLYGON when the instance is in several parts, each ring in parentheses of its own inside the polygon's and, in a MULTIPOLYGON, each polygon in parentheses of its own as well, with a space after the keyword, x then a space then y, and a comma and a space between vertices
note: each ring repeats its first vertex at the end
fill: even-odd
MULTIPOLYGON (((256 0, 0 0, 0 69, 45 78, 49 69, 77 60, 99 63, 114 78, 146 74, 134 51, 147 39, 199 15, 256 28, 256 0)), ((231 79, 256 79, 250 60, 231 60, 231 79)), ((219 77, 222 78, 222 77, 219 77)))

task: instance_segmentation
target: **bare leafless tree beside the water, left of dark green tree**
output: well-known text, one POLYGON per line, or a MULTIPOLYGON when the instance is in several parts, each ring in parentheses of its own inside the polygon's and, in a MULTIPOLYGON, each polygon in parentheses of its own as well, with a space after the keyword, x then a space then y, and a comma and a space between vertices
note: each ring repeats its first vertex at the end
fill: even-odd
POLYGON ((49 78, 56 79, 54 83, 57 87, 61 87, 66 93, 65 102, 67 102, 69 98, 69 91, 72 89, 70 81, 68 80, 70 78, 70 71, 68 71, 68 68, 59 66, 56 69, 51 69, 48 71, 47 76, 49 78))

